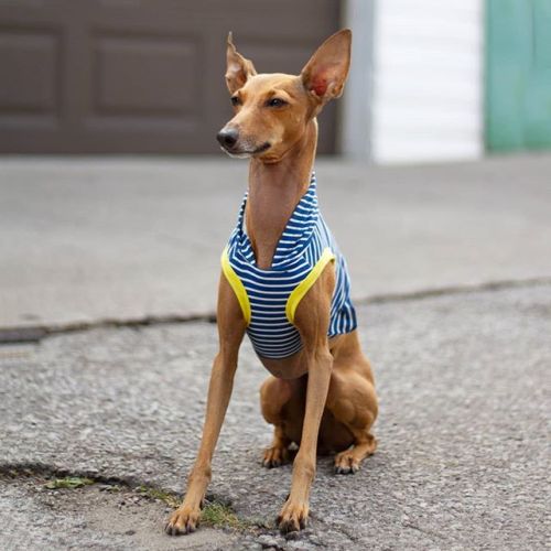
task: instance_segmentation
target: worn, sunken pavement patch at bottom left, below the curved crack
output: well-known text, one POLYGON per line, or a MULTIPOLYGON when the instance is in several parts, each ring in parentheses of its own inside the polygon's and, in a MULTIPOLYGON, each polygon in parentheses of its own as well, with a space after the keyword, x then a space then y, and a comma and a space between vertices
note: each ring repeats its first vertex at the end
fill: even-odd
POLYGON ((171 510, 162 501, 116 485, 51 490, 48 483, 41 476, 0 483, 2 550, 206 551, 228 549, 238 541, 237 534, 204 528, 188 541, 175 542, 151 529, 160 526, 171 510))

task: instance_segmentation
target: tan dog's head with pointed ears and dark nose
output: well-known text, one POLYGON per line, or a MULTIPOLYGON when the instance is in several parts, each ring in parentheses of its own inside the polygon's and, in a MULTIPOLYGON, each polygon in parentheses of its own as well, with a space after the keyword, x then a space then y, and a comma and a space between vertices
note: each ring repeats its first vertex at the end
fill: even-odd
POLYGON ((328 37, 300 75, 257 74, 252 62, 227 43, 226 83, 234 118, 217 139, 233 156, 277 162, 301 139, 323 106, 343 94, 350 65, 352 32, 328 37))

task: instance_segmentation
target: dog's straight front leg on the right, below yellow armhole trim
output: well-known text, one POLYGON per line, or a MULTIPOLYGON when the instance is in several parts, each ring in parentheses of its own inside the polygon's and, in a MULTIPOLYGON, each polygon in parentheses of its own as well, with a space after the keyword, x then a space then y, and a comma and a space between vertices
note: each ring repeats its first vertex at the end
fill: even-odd
POLYGON ((309 379, 301 445, 294 458, 291 493, 278 517, 282 532, 304 528, 309 516, 310 488, 315 476, 317 434, 333 371, 327 329, 334 282, 334 270, 329 264, 296 311, 295 325, 304 345, 309 379))

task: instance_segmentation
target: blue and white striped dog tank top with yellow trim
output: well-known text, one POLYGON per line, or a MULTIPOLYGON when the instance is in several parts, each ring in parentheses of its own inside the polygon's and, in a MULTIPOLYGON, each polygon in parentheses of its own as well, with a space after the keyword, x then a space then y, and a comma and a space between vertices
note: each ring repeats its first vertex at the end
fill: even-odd
POLYGON ((287 223, 269 270, 256 264, 244 223, 246 204, 247 194, 222 255, 222 268, 239 301, 256 353, 263 358, 285 358, 302 348, 294 313, 327 262, 335 262, 336 270, 328 336, 354 331, 357 322, 348 270, 320 213, 315 174, 287 223))

